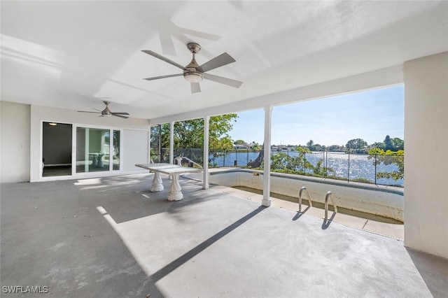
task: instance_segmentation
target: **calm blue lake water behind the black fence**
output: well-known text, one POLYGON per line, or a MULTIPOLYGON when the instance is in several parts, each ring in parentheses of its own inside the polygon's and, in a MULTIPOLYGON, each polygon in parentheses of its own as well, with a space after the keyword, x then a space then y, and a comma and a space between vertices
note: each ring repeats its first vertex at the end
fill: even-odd
MULTIPOLYGON (((298 152, 284 152, 290 157, 297 156, 298 152)), ((276 152, 272 152, 275 155, 276 152)), ((307 153, 305 157, 307 161, 313 164, 317 164, 319 159, 323 159, 323 164, 329 169, 334 171, 334 175, 339 178, 344 178, 348 180, 355 180, 356 178, 365 178, 375 183, 375 166, 373 159, 367 159, 368 155, 354 155, 345 154, 337 152, 313 152, 307 153)), ((248 162, 258 157, 258 152, 227 152, 225 156, 214 157, 210 155, 210 162, 215 166, 246 166, 248 162)), ((378 164, 376 166, 377 172, 382 171, 396 171, 398 166, 395 164, 389 164, 385 166, 384 164, 378 164)), ((311 174, 311 169, 305 169, 305 173, 311 174)), ((330 171, 327 171, 327 175, 330 175, 330 171)), ((404 185, 402 179, 394 181, 393 179, 381 178, 376 180, 377 184, 381 185, 404 185)))

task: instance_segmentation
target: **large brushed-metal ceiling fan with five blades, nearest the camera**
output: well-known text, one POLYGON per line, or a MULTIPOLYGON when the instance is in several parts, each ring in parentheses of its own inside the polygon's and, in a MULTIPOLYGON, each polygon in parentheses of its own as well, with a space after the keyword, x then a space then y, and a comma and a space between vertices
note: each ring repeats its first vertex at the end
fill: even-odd
POLYGON ((188 43, 187 48, 193 54, 193 59, 187 66, 182 66, 181 64, 178 64, 168 59, 167 57, 163 57, 162 55, 159 55, 158 53, 153 52, 152 50, 142 50, 142 52, 146 52, 146 54, 148 55, 156 57, 162 61, 172 64, 176 67, 179 67, 179 69, 183 70, 183 73, 176 73, 167 76, 155 76, 153 78, 144 78, 144 80, 158 80, 160 78, 172 78, 174 76, 183 76, 186 80, 188 80, 188 82, 191 83, 191 93, 201 92, 199 82, 203 78, 205 78, 206 80, 214 80, 215 82, 229 85, 235 88, 239 88, 239 86, 241 86, 241 84, 243 83, 240 82, 239 80, 232 80, 230 78, 223 78, 222 76, 214 76, 209 73, 206 73, 207 71, 211 71, 212 69, 217 69, 218 67, 235 62, 235 59, 233 59, 232 56, 230 56, 227 52, 224 52, 218 57, 214 57, 213 59, 209 60, 208 62, 205 62, 200 66, 196 62, 195 55, 201 50, 201 46, 198 45, 197 43, 188 43))

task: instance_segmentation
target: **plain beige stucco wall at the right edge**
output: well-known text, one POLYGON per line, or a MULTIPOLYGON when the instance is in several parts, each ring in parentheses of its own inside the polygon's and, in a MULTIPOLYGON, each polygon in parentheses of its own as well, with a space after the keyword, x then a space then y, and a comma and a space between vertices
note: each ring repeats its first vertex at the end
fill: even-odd
POLYGON ((448 257, 448 52, 404 71, 405 246, 448 257))

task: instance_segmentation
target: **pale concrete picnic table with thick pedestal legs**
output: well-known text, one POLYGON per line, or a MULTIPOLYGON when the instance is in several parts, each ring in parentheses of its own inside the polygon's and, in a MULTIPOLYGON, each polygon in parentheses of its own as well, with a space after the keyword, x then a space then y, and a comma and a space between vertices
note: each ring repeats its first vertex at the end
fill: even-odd
POLYGON ((183 198, 182 188, 179 184, 179 175, 183 173, 197 173, 202 171, 202 169, 180 166, 178 164, 136 164, 135 166, 154 172, 153 183, 150 189, 151 192, 161 192, 163 190, 160 173, 165 173, 172 176, 172 183, 167 198, 168 201, 179 201, 183 198))

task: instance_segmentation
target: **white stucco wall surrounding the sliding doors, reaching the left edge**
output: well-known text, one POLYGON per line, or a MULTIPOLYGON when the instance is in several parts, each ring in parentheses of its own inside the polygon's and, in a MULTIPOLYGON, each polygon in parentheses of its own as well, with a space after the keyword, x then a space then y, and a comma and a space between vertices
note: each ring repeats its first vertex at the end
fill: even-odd
MULTIPOLYGON (((144 119, 122 119, 116 117, 101 118, 90 113, 77 113, 76 111, 46 106, 15 104, 0 101, 1 108, 1 182, 22 182, 41 180, 42 160, 42 121, 73 123, 92 127, 113 127, 123 129, 123 142, 130 141, 129 148, 141 146, 130 150, 129 155, 123 155, 123 173, 144 172, 134 166, 134 157, 139 157, 139 163, 146 157, 141 152, 148 152, 149 122, 144 119), (127 129, 127 130, 126 130, 127 129), (134 135, 139 135, 139 140, 134 135), (140 140, 144 135, 146 139, 140 140), (138 151, 136 154, 136 150, 138 151)), ((109 175, 109 172, 98 175, 109 175)), ((116 174, 116 173, 115 173, 116 174)))

